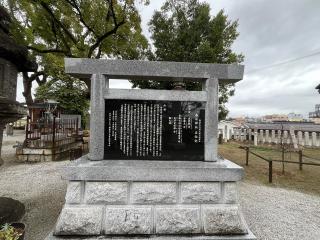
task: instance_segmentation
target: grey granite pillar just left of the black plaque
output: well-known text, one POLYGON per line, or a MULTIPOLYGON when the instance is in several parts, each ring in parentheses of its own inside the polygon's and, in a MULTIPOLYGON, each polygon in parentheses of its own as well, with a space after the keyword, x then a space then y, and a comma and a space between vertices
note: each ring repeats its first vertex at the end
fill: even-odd
POLYGON ((90 160, 103 160, 104 157, 104 94, 109 81, 102 74, 91 77, 91 115, 90 115, 90 160))

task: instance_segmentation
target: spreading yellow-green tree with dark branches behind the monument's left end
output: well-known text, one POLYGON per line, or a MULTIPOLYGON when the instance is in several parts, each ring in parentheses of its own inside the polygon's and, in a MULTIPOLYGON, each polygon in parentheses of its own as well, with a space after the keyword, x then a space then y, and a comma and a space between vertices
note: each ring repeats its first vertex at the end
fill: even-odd
POLYGON ((13 19, 12 36, 39 64, 37 72, 23 73, 27 104, 34 81, 43 85, 63 74, 64 57, 138 59, 148 47, 134 0, 1 2, 13 19))

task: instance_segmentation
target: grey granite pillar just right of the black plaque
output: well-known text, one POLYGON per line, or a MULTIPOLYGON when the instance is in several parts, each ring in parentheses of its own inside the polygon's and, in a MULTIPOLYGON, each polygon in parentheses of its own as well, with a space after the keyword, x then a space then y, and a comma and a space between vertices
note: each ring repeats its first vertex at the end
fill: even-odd
POLYGON ((208 94, 205 111, 204 160, 212 162, 218 159, 218 79, 207 79, 206 91, 208 94))

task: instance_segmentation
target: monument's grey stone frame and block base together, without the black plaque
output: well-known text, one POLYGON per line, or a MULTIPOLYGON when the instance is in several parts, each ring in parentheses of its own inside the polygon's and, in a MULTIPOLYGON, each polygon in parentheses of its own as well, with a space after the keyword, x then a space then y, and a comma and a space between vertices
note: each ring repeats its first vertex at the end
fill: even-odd
POLYGON ((243 168, 217 156, 218 83, 241 80, 243 66, 66 59, 65 68, 91 79, 90 153, 64 170, 66 201, 47 240, 256 239, 238 202, 243 168), (203 89, 110 89, 109 79, 200 81, 203 89), (108 99, 205 102, 204 159, 104 161, 108 99))

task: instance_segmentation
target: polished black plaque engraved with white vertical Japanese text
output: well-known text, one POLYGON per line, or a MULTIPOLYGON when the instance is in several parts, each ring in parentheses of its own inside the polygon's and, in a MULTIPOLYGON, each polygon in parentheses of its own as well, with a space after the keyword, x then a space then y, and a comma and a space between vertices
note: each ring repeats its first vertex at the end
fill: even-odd
POLYGON ((205 103, 106 100, 105 159, 204 160, 205 103))

